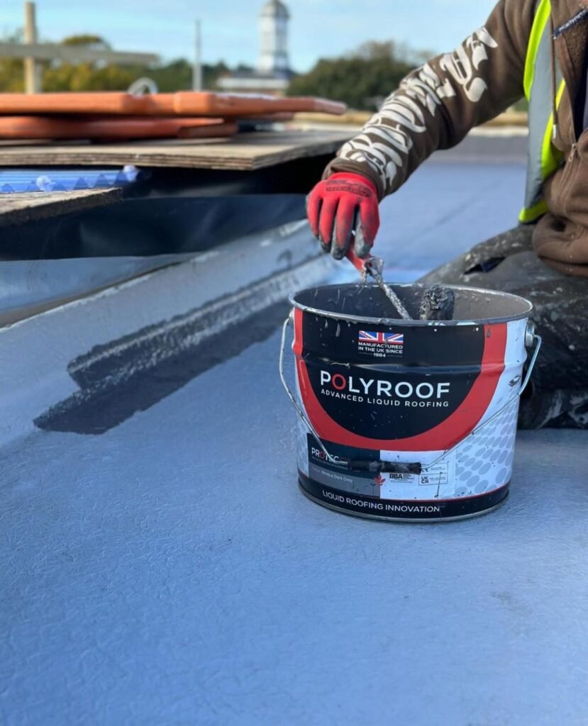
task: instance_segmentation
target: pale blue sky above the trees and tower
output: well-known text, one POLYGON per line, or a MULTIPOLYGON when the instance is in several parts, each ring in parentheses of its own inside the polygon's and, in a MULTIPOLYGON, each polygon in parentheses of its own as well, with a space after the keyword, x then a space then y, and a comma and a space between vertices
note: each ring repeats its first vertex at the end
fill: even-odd
MULTIPOLYGON (((478 28, 496 0, 286 0, 290 65, 309 70, 319 57, 352 51, 364 41, 393 39, 415 50, 444 52, 478 28)), ((23 2, 2 0, 0 33, 23 25, 23 2)), ((257 16, 264 0, 37 0, 42 40, 102 36, 116 50, 191 59, 194 22, 203 24, 203 60, 256 65, 257 16)))

